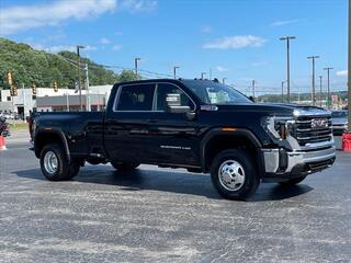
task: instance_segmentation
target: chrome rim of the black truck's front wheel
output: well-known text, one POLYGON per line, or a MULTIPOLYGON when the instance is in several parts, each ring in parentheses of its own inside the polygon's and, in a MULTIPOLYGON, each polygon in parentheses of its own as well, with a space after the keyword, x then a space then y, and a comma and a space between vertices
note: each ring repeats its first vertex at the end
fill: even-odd
POLYGON ((226 160, 218 169, 218 178, 227 191, 238 191, 245 183, 244 167, 235 160, 226 160))

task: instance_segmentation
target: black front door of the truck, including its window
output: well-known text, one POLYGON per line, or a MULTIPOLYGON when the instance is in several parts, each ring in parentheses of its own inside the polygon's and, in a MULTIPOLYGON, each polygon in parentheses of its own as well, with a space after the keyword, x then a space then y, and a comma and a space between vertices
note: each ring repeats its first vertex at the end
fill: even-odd
POLYGON ((170 111, 167 99, 169 95, 180 96, 180 106, 189 106, 195 111, 195 103, 178 85, 159 82, 156 85, 154 98, 154 123, 150 124, 154 155, 159 162, 178 165, 199 165, 199 125, 193 113, 173 113, 170 111), (193 117, 192 117, 193 116, 193 117))

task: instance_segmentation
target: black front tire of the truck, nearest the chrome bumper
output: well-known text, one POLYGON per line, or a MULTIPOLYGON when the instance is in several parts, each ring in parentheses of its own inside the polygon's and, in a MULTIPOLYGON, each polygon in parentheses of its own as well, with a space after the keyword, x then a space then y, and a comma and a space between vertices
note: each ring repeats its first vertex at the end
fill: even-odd
MULTIPOLYGON (((222 178, 225 175, 222 175, 222 178)), ((257 173, 252 157, 244 150, 236 149, 222 151, 215 157, 211 165, 211 179, 218 194, 227 199, 246 199, 256 193, 260 184, 260 178, 257 173), (219 178, 219 169, 220 171, 228 169, 230 172, 230 168, 233 168, 231 164, 239 164, 239 174, 234 176, 229 175, 226 180, 230 182, 228 183, 227 181, 225 183, 224 181, 226 180, 219 178), (241 176, 239 176, 240 173, 241 176), (235 180, 237 176, 242 179, 241 183, 237 183, 235 180)))

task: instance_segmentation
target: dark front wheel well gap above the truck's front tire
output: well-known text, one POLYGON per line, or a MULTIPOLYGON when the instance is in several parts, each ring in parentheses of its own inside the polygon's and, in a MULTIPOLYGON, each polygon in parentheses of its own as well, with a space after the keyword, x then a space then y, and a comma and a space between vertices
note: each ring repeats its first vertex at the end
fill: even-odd
MULTIPOLYGON (((246 152, 248 152, 250 157, 252 157, 252 160, 256 160, 257 147, 247 136, 217 135, 217 136, 214 136, 205 146, 205 150, 204 150, 205 172, 210 171, 213 159, 220 151, 228 150, 228 149, 245 149, 246 152)), ((258 163, 257 161, 254 162, 258 163)))

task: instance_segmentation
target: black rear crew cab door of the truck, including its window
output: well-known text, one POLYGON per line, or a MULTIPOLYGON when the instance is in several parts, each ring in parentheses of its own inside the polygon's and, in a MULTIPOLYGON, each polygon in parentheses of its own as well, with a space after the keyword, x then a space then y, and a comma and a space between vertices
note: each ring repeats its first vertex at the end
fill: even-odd
POLYGON ((149 124, 154 119, 155 88, 155 83, 118 87, 114 105, 105 117, 104 142, 111 159, 136 162, 154 159, 149 124))

